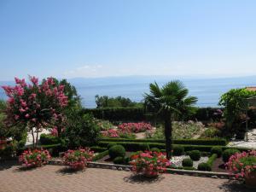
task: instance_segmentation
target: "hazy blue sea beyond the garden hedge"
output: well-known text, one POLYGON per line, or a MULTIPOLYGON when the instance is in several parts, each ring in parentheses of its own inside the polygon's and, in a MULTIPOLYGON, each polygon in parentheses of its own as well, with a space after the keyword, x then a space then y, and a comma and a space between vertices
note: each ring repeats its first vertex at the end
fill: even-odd
MULTIPOLYGON (((190 96, 197 96, 198 107, 218 107, 218 101, 230 89, 256 86, 256 76, 236 78, 173 78, 168 76, 128 76, 97 79, 67 79, 73 84, 82 98, 84 108, 96 108, 95 96, 124 96, 131 101, 143 102, 143 96, 149 91, 149 84, 157 82, 160 86, 172 79, 181 79, 189 89, 190 96)), ((12 81, 0 85, 14 84, 12 81)), ((7 99, 0 89, 0 99, 7 99)))

